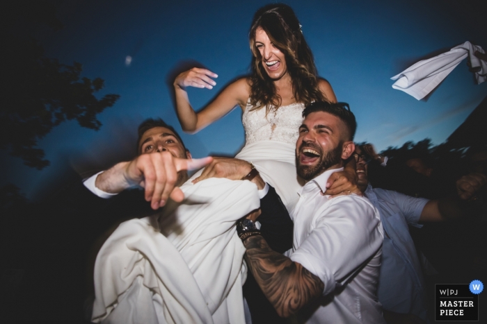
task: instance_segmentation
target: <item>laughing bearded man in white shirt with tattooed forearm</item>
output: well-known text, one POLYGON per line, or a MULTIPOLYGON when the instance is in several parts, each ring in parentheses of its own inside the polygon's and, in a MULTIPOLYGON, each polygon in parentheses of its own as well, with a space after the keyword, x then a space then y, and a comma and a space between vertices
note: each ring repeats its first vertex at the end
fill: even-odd
POLYGON ((246 262, 282 317, 302 323, 385 323, 376 298, 383 229, 374 206, 355 194, 324 194, 330 175, 355 151, 356 120, 345 103, 315 102, 303 110, 296 142, 298 175, 307 181, 291 212, 287 255, 269 248, 253 225, 237 225, 246 262))

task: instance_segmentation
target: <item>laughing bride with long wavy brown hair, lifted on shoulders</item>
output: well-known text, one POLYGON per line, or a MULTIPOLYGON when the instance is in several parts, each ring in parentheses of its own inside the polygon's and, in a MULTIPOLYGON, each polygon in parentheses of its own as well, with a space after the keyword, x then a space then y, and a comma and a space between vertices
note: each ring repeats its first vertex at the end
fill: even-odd
MULTIPOLYGON (((303 108, 313 101, 337 99, 330 83, 317 76, 312 52, 292 8, 272 3, 257 10, 249 40, 252 74, 228 85, 199 112, 191 107, 186 87, 212 89, 217 75, 193 68, 175 78, 177 115, 184 131, 196 133, 239 105, 246 145, 236 157, 255 165, 292 210, 300 187, 294 151, 303 108)), ((196 182, 205 178, 205 171, 203 174, 196 182)))

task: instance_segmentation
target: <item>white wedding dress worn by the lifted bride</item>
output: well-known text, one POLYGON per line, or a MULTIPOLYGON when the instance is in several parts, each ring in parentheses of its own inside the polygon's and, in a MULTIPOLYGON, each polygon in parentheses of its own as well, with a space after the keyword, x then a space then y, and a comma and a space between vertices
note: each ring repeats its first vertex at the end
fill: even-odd
MULTIPOLYGON (((252 162, 260 176, 276 188, 287 210, 298 201, 303 186, 296 175, 296 140, 303 123, 303 103, 292 103, 269 112, 247 105, 242 116, 246 145, 235 157, 252 162)), ((302 181, 302 180, 301 180, 302 181)))

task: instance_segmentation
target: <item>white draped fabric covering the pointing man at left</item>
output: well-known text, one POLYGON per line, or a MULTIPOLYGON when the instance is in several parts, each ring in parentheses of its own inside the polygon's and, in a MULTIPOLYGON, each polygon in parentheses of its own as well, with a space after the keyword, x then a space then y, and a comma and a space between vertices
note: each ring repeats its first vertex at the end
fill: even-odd
POLYGON ((102 246, 93 322, 245 323, 245 248, 234 225, 260 206, 257 187, 190 181, 183 203, 120 224, 102 246))

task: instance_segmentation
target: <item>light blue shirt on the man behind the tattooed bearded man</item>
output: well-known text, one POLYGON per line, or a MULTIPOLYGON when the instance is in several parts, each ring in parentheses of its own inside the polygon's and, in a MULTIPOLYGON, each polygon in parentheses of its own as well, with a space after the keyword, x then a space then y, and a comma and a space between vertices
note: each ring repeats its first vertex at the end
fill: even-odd
POLYGON ((426 296, 420 259, 408 225, 418 226, 428 199, 372 188, 365 195, 381 215, 385 238, 377 296, 383 309, 413 313, 426 321, 426 296))

